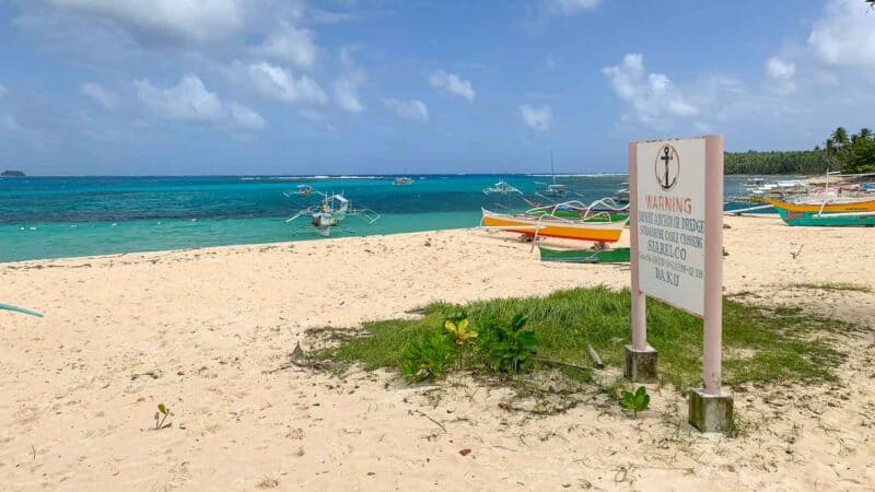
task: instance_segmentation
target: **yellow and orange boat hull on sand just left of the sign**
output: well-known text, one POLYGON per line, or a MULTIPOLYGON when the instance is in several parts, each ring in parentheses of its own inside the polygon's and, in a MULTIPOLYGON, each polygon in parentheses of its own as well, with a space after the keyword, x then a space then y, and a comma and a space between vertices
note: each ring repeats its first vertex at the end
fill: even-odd
POLYGON ((514 232, 527 236, 560 237, 563 239, 616 243, 620 241, 628 218, 612 222, 586 222, 552 215, 495 213, 482 209, 481 225, 487 229, 514 232))

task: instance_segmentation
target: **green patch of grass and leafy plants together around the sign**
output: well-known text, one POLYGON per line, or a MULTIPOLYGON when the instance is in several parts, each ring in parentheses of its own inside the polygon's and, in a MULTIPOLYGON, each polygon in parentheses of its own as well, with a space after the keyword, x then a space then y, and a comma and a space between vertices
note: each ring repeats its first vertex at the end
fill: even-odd
MULTIPOLYGON (((602 355, 604 364, 622 367, 622 347, 630 342, 630 293, 607 288, 572 289, 546 297, 506 297, 466 306, 467 319, 479 336, 464 367, 488 376, 495 368, 559 368, 578 383, 592 380, 587 344, 602 355), (513 319, 524 313, 521 325, 513 319), (506 325, 495 320, 511 320, 506 325), (520 335, 515 355, 492 352, 495 329, 520 335), (537 340, 537 355, 532 338, 537 340), (501 355, 495 364, 493 356, 501 355), (525 355, 525 356, 524 356, 525 355), (584 370, 582 370, 582 367, 584 370), (588 368, 585 370, 585 368, 588 368)), ((442 377, 459 356, 458 345, 445 330, 445 303, 425 306, 418 319, 366 323, 366 337, 351 337, 312 354, 338 372, 351 364, 364 370, 396 368, 410 382, 442 377)), ((789 306, 758 306, 734 298, 723 305, 723 380, 726 386, 748 383, 832 382, 844 355, 831 340, 853 326, 789 306)), ((648 302, 648 341, 660 351, 660 375, 664 383, 684 389, 701 385, 702 321, 656 301, 648 302)), ((505 347, 506 348, 506 347, 505 347)), ((504 373, 506 374, 506 373, 504 373)))

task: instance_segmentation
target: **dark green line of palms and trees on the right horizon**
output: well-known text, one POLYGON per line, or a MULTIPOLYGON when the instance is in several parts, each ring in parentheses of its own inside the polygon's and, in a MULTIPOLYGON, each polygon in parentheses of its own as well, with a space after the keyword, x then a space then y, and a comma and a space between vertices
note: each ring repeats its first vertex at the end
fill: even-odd
POLYGON ((875 173, 875 136, 868 128, 849 133, 839 127, 824 148, 804 151, 726 152, 725 174, 875 173))

